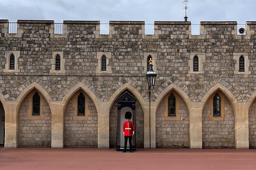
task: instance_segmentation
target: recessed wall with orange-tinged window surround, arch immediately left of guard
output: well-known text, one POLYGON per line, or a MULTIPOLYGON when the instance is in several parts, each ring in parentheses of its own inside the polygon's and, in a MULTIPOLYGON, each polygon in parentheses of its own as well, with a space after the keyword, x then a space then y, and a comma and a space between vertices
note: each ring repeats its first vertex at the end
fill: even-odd
POLYGON ((97 148, 98 112, 91 97, 78 89, 64 108, 64 147, 97 148), (84 115, 78 115, 78 96, 83 94, 84 115))

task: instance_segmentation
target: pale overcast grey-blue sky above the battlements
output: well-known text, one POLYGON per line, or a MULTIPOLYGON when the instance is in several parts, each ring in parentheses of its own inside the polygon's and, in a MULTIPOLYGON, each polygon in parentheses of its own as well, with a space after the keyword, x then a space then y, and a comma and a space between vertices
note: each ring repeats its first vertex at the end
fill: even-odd
MULTIPOLYGON (((246 21, 256 21, 256 0, 189 0, 187 5, 188 20, 192 24, 237 21, 244 25, 246 21)), ((128 20, 154 24, 154 21, 183 21, 184 6, 183 0, 0 0, 0 19, 9 22, 42 19, 54 20, 55 23, 96 20, 101 24, 128 20)), ((107 27, 101 25, 105 34, 107 27)), ((146 33, 152 32, 153 26, 146 25, 146 33)))

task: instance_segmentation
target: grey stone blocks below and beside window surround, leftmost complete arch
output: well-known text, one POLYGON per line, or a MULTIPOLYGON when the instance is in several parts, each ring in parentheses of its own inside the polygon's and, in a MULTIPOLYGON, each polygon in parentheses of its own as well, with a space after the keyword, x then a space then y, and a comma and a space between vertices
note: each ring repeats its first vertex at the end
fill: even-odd
POLYGON ((18 146, 50 147, 52 138, 52 115, 48 103, 45 100, 45 106, 43 106, 43 115, 45 119, 30 120, 28 117, 27 110, 28 99, 26 98, 23 104, 21 105, 18 115, 18 146))

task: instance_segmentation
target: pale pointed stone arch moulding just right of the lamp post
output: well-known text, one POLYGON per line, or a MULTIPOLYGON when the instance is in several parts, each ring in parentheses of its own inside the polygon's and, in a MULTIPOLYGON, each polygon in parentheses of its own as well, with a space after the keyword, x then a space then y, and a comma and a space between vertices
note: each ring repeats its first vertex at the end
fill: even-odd
POLYGON ((177 92, 181 98, 183 99, 183 101, 185 102, 187 108, 188 108, 188 111, 189 111, 189 108, 192 107, 192 103, 191 103, 191 99, 190 97, 178 86, 178 85, 175 85, 174 83, 167 86, 159 95, 158 97, 155 99, 155 112, 160 104, 160 102, 163 100, 163 98, 165 97, 165 95, 167 93, 169 93, 171 90, 174 90, 175 92, 177 92))

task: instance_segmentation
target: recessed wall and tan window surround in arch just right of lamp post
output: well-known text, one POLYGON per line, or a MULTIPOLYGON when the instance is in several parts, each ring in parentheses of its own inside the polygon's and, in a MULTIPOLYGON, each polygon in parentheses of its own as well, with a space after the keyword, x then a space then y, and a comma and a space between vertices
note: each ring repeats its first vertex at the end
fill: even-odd
POLYGON ((175 90, 169 91, 159 103, 155 114, 155 147, 189 148, 189 110, 175 90), (168 97, 175 97, 175 115, 168 116, 168 97))

